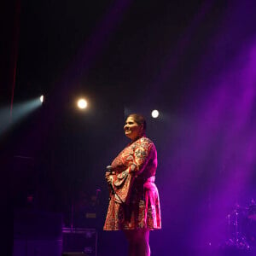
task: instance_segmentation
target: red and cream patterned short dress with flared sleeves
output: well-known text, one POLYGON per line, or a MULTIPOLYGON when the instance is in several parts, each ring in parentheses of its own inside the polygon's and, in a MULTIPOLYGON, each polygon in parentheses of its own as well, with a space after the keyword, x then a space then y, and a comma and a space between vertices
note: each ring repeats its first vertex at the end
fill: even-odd
POLYGON ((103 230, 161 228, 160 200, 154 184, 157 153, 154 143, 140 137, 113 160, 112 186, 103 230))

